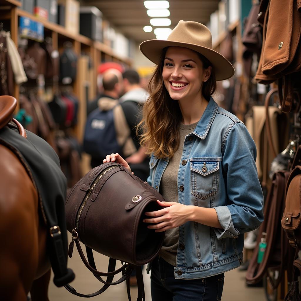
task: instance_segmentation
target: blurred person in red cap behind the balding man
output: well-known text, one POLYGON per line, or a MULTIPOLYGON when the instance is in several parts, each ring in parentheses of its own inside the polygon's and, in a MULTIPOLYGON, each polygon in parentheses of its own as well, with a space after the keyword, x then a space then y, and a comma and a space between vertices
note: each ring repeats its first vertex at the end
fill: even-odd
MULTIPOLYGON (((97 96, 88 103, 87 107, 87 115, 89 115, 93 110, 95 110, 98 107, 98 100, 101 97, 110 97, 109 95, 106 94, 107 90, 104 91, 104 86, 103 86, 103 79, 104 79, 104 74, 115 74, 120 82, 120 85, 122 85, 123 79, 122 79, 122 73, 124 69, 123 67, 115 62, 106 62, 103 64, 100 64, 98 66, 97 72, 97 87, 98 87, 98 94, 97 96)), ((118 95, 117 98, 119 98, 120 95, 118 95)), ((113 99, 117 99, 113 98, 113 99)))

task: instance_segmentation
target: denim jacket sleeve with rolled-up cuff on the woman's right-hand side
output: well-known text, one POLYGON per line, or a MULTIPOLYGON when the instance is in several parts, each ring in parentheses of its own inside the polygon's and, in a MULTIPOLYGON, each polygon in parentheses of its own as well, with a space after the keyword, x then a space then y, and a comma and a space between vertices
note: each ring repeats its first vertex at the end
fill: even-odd
POLYGON ((227 203, 214 207, 222 229, 218 239, 237 237, 263 222, 263 193, 258 179, 256 146, 243 123, 234 123, 222 145, 227 203))

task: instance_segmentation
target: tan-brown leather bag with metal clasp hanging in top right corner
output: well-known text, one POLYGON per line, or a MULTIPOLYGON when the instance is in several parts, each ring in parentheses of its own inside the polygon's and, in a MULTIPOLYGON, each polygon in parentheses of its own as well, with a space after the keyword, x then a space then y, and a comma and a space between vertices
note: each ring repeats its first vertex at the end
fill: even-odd
MULTIPOLYGON (((262 52, 255 79, 262 84, 278 80, 281 110, 290 112, 293 88, 298 85, 294 79, 299 78, 291 74, 301 70, 301 5, 296 0, 270 0, 266 6, 262 52)), ((262 20, 262 12, 259 15, 262 20)))

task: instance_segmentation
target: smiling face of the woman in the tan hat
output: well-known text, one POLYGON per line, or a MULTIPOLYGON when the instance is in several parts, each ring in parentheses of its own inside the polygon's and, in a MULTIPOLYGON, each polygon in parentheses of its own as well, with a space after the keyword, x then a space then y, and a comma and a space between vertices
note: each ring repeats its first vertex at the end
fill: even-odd
POLYGON ((175 46, 167 49, 162 76, 172 99, 200 98, 203 80, 207 79, 207 75, 195 51, 175 46))

